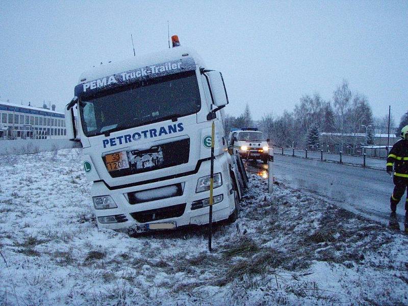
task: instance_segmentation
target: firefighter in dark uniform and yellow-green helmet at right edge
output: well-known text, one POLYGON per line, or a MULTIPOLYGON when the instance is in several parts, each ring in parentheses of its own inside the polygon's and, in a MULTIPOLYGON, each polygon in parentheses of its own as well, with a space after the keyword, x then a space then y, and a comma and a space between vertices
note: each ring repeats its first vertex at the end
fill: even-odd
MULTIPOLYGON (((387 158, 387 173, 392 175, 393 167, 395 171, 395 187, 390 198, 391 218, 395 218, 395 221, 397 204, 404 195, 405 190, 407 190, 408 193, 408 125, 402 127, 401 138, 401 140, 393 145, 387 158)), ((406 218, 408 218, 408 194, 405 200, 405 219, 406 218)))

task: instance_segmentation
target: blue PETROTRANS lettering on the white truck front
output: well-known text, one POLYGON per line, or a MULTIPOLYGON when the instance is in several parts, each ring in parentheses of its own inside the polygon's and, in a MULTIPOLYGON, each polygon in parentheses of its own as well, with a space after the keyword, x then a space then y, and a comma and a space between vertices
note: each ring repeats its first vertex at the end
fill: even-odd
POLYGON ((177 123, 177 124, 170 124, 167 126, 161 126, 158 129, 150 129, 150 130, 144 130, 141 132, 135 132, 133 134, 126 134, 126 135, 121 135, 117 137, 112 137, 112 138, 107 138, 102 141, 104 148, 108 146, 115 146, 115 145, 121 145, 123 143, 130 143, 133 141, 138 141, 140 139, 146 139, 146 138, 155 138, 159 137, 162 135, 167 135, 167 134, 173 134, 173 133, 178 133, 182 132, 184 130, 183 127, 183 122, 177 123))

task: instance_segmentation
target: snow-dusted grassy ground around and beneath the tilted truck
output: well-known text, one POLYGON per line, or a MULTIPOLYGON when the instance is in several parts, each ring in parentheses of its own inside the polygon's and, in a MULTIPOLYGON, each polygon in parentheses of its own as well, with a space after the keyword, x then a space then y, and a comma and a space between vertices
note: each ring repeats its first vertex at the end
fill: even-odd
POLYGON ((213 253, 205 227, 98 231, 80 154, 0 157, 0 304, 408 304, 407 236, 257 174, 213 253))

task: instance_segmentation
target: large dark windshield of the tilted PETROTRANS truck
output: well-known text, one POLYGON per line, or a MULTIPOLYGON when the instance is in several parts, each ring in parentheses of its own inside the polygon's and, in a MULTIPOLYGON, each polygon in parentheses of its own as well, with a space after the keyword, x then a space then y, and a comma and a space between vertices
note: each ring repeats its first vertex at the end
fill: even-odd
POLYGON ((195 71, 167 75, 96 93, 80 100, 87 137, 197 113, 195 71))

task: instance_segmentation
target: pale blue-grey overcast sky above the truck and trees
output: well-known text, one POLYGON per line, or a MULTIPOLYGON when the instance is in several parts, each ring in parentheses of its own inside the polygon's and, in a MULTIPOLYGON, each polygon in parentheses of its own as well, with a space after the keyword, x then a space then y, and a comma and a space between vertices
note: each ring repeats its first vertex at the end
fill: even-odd
MULTIPOLYGON (((408 110, 408 1, 1 1, 0 100, 63 111, 80 73, 167 47, 170 35, 220 70, 230 105, 254 119, 330 99, 345 79, 376 116, 408 110)), ((397 123, 398 123, 397 122, 397 123)))

